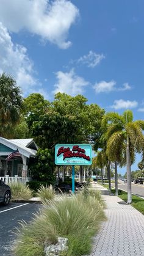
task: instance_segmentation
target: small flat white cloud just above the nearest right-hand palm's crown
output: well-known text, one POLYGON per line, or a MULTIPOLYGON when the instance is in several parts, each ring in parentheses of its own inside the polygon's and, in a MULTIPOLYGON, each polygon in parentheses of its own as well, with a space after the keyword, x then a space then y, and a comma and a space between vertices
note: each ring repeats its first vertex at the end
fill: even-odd
POLYGON ((114 109, 128 109, 128 108, 136 108, 138 105, 137 101, 130 101, 130 100, 115 100, 114 104, 111 108, 114 109))

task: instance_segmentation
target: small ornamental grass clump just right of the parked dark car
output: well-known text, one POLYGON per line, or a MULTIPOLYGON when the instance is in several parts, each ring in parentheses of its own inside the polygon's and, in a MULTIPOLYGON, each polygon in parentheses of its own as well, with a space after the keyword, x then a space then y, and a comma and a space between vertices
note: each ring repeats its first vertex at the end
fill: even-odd
POLYGON ((16 182, 10 183, 9 186, 12 191, 12 201, 31 199, 32 191, 29 186, 16 182))

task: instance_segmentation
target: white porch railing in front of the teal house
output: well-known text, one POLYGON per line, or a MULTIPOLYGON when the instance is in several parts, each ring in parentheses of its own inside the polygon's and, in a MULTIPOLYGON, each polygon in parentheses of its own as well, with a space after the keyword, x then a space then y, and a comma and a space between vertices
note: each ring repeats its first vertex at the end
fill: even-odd
POLYGON ((9 177, 9 175, 5 175, 5 177, 0 177, 0 180, 4 181, 5 184, 10 183, 23 183, 26 184, 27 181, 30 181, 30 177, 18 177, 18 175, 15 175, 15 177, 9 177))

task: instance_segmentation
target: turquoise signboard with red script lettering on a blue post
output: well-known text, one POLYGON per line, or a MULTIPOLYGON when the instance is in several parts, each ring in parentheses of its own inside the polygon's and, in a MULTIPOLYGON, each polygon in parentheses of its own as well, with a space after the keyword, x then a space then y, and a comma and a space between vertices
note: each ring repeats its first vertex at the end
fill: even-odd
POLYGON ((88 166, 92 164, 90 144, 57 144, 55 146, 55 164, 63 166, 88 166))

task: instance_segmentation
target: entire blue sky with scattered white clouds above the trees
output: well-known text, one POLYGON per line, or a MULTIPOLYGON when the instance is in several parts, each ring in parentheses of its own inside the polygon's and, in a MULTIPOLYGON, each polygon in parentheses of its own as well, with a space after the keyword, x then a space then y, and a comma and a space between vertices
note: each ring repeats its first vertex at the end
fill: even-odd
POLYGON ((88 104, 143 119, 143 25, 143 0, 1 0, 0 73, 24 97, 81 93, 88 104))

